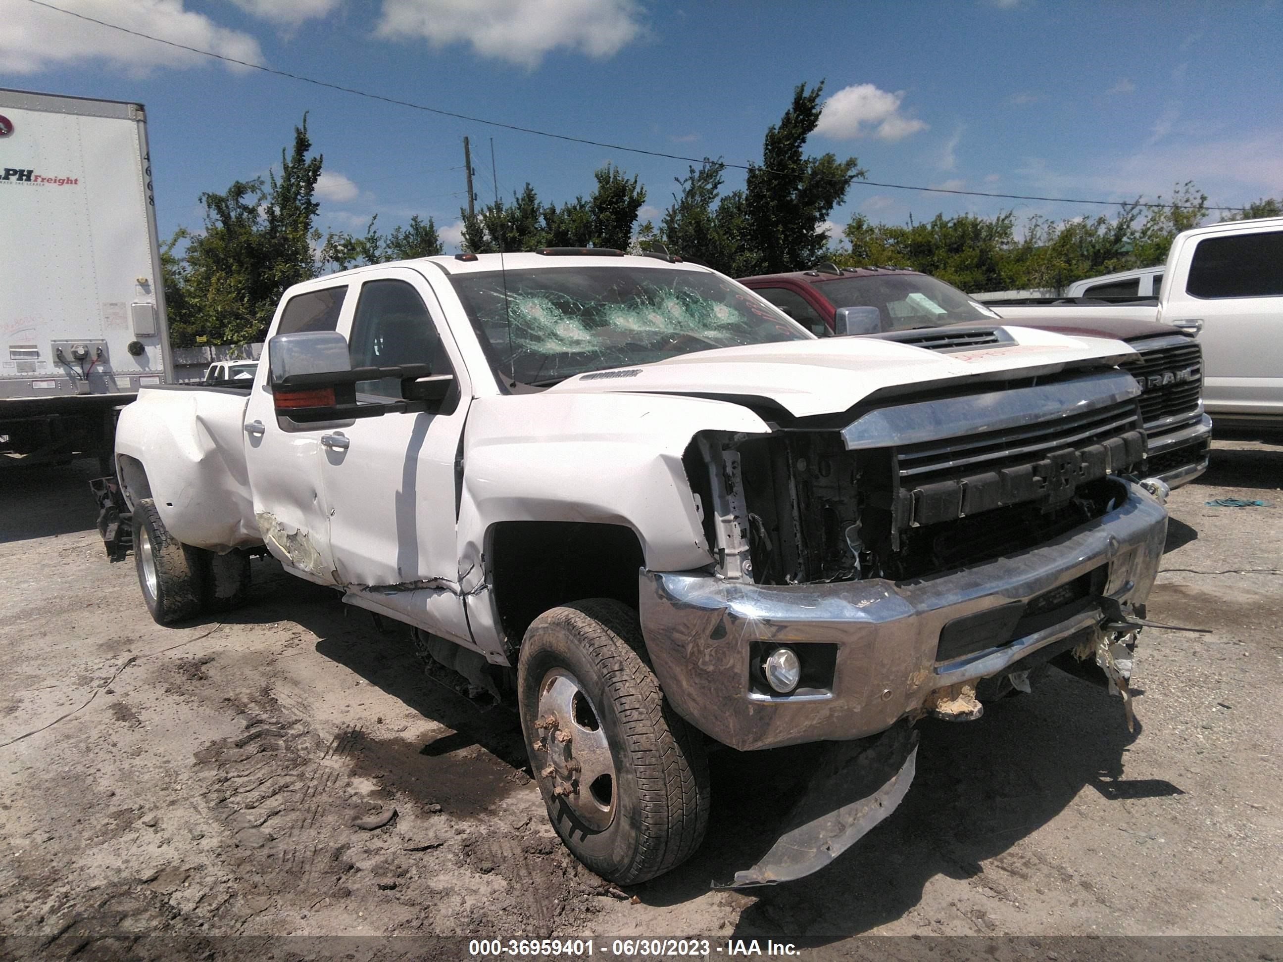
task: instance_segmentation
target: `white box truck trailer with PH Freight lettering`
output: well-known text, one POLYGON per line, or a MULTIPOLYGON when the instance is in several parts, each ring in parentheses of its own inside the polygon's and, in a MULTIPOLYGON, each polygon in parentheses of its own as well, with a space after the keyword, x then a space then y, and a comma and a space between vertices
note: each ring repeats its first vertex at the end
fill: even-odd
POLYGON ((141 104, 0 89, 0 467, 96 454, 173 381, 141 104))

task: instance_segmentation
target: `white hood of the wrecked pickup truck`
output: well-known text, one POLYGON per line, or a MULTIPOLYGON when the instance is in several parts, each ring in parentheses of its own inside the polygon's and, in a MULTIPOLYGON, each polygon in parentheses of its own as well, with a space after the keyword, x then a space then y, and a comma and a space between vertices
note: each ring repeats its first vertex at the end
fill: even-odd
POLYGON ((870 337, 754 344, 570 377, 549 394, 684 394, 744 400, 762 398, 793 417, 830 414, 869 395, 906 385, 943 386, 1116 364, 1135 357, 1121 341, 1069 337, 1007 327, 1012 344, 939 353, 870 337), (854 377, 852 376, 854 375, 854 377))

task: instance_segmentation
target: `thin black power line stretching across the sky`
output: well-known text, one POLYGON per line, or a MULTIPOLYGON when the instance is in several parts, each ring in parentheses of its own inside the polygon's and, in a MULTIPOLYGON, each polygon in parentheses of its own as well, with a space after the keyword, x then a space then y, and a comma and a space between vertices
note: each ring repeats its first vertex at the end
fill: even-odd
MULTIPOLYGON (((385 104, 393 104, 395 106, 408 106, 412 110, 423 110, 426 113, 438 114, 439 117, 453 117, 458 121, 467 121, 468 123, 481 123, 488 127, 499 127, 502 130, 516 131, 518 133, 532 133, 538 137, 550 137, 553 140, 563 140, 571 144, 585 144, 593 148, 606 148, 607 150, 622 150, 627 154, 644 154, 645 156, 658 156, 667 160, 685 160, 693 164, 711 163, 709 158, 703 156, 686 156, 684 154, 666 154, 661 150, 644 150, 643 148, 629 148, 622 144, 607 144, 600 140, 589 140, 588 137, 575 137, 568 133, 554 133, 552 131, 540 131, 534 127, 522 127, 516 123, 503 123, 502 121, 488 121, 484 117, 471 117, 470 114, 455 113, 454 110, 443 110, 436 106, 427 106, 426 104, 416 104, 409 100, 400 100, 398 97, 384 96, 382 94, 371 94, 366 90, 358 90, 355 87, 345 87, 340 83, 330 83, 328 81, 316 80, 314 77, 304 77, 302 73, 290 73, 289 71, 278 71, 273 67, 264 67, 263 64, 250 63, 249 60, 239 60, 235 56, 226 56, 225 54, 216 54, 212 50, 201 50, 200 47, 189 46, 187 44, 178 44, 173 40, 166 40, 163 37, 154 37, 150 33, 142 33, 141 31, 130 30, 128 27, 122 27, 117 23, 108 23, 106 21, 100 21, 95 17, 89 17, 83 13, 76 13, 74 10, 64 10, 62 6, 54 6, 53 4, 45 3, 45 0, 27 0, 30 4, 36 6, 44 6, 46 10, 53 10, 55 13, 62 13, 68 17, 74 17, 80 21, 86 21, 89 23, 96 23, 99 27, 106 27, 109 30, 119 31, 121 33, 128 33, 133 37, 141 37, 142 40, 150 40, 155 44, 164 44, 166 46, 177 47, 178 50, 187 50, 192 54, 200 54, 201 56, 209 56, 214 60, 223 60, 226 63, 234 63, 239 67, 248 67, 251 71, 262 71, 263 73, 271 73, 277 77, 285 77, 286 80, 299 81, 300 83, 312 83, 317 87, 327 87, 330 90, 337 90, 343 94, 352 94, 353 96, 367 97, 370 100, 380 100, 385 104)), ((781 171, 771 171, 770 168, 757 167, 752 164, 734 164, 726 160, 718 160, 722 167, 730 167, 738 171, 766 171, 767 173, 783 173, 781 171)), ((856 180, 852 185, 861 187, 887 187, 889 190, 916 190, 925 194, 958 194, 969 198, 998 198, 1001 200, 1043 200, 1055 204, 1097 204, 1101 207, 1133 207, 1132 201, 1126 200, 1087 200, 1083 198, 1044 198, 1035 194, 994 194, 989 191, 980 190, 949 190, 947 187, 921 187, 911 183, 887 183, 884 181, 866 181, 856 180)), ((1143 208, 1157 208, 1157 209, 1170 209, 1170 210, 1183 210, 1194 209, 1193 204, 1141 204, 1137 203, 1134 207, 1143 208)), ((1206 210, 1243 210, 1241 207, 1207 207, 1206 210)))

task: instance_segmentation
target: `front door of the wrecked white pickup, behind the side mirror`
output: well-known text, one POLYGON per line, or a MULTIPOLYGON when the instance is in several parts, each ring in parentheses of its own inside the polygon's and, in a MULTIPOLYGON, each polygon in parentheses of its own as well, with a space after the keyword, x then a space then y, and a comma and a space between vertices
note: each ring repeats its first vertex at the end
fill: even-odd
MULTIPOLYGON (((355 287, 355 285, 354 285, 355 287)), ((363 277, 345 319, 352 366, 430 364, 454 389, 429 410, 364 418, 322 437, 321 487, 348 600, 471 644, 455 541, 458 459, 472 391, 427 281, 412 268, 363 277)), ((359 400, 398 400, 396 380, 357 385, 359 400)))

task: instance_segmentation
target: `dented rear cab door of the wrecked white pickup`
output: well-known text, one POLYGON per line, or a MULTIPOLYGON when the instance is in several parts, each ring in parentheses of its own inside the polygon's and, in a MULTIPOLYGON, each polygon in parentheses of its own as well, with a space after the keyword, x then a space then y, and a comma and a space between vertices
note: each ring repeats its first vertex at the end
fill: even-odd
MULTIPOLYGON (((348 285, 304 291, 285 301, 278 333, 335 331, 346 305, 348 285)), ((330 550, 330 517, 319 486, 323 425, 277 421, 267 355, 258 366, 245 408, 245 463, 254 517, 272 555, 294 573, 323 585, 339 584, 330 550)), ((348 422, 344 422, 348 423, 348 422)))

